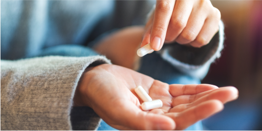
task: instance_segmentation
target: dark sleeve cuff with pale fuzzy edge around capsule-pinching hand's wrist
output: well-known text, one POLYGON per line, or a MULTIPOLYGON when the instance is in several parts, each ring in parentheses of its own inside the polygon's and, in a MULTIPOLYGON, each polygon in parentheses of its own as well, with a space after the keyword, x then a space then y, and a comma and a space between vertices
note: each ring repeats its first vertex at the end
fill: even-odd
POLYGON ((178 43, 164 44, 157 53, 180 72, 203 79, 208 73, 210 64, 220 57, 223 42, 224 26, 220 20, 219 31, 209 44, 201 48, 186 47, 178 43))

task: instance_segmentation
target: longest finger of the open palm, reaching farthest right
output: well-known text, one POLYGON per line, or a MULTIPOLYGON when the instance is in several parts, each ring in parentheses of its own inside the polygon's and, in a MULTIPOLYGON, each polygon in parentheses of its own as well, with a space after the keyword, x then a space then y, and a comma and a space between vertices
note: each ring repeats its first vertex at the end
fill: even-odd
POLYGON ((219 100, 224 104, 237 99, 237 97, 238 90, 235 87, 221 87, 219 89, 187 96, 186 98, 174 99, 172 102, 174 108, 172 108, 170 112, 181 112, 209 100, 219 100))

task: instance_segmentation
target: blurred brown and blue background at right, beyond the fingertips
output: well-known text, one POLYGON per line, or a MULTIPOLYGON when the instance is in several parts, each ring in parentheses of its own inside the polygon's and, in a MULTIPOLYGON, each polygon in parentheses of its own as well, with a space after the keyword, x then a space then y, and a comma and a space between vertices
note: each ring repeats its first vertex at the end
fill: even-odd
POLYGON ((221 12, 225 47, 202 83, 235 86, 239 99, 204 120, 205 130, 262 130, 262 1, 211 2, 221 12))

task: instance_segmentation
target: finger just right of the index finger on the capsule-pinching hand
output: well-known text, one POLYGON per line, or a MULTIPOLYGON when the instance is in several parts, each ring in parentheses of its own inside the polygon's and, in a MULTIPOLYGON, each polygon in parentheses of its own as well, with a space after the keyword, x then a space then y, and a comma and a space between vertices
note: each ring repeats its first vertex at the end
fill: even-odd
POLYGON ((166 41, 172 42, 179 36, 187 24, 192 8, 193 2, 191 0, 176 1, 167 30, 166 41))

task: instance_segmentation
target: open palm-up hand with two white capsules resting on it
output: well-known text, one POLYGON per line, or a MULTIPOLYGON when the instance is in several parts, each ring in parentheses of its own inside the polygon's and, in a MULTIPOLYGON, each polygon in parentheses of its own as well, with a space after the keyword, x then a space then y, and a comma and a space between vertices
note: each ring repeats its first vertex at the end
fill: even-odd
POLYGON ((234 87, 162 83, 118 65, 88 68, 77 87, 74 102, 91 107, 105 122, 120 130, 181 130, 223 108, 237 98, 234 87), (138 85, 161 109, 142 111, 142 100, 134 91, 138 85))

